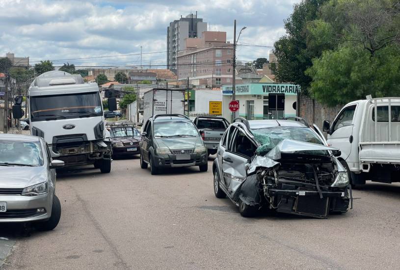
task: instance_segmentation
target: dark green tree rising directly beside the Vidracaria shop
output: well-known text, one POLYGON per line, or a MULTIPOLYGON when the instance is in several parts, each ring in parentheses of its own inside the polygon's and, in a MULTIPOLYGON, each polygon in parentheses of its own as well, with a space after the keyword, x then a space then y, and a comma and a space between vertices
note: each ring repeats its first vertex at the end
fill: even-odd
POLYGON ((312 58, 319 56, 307 49, 306 26, 317 18, 318 9, 327 0, 303 0, 293 6, 293 13, 284 21, 286 35, 274 44, 277 63, 271 63, 275 79, 301 85, 307 91, 311 78, 304 72, 312 65, 312 58))

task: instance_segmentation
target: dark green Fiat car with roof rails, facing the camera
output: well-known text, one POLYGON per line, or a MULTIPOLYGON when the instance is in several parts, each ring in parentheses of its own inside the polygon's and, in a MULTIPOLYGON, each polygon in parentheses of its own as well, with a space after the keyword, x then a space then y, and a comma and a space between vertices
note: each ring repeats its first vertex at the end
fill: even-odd
POLYGON ((208 152, 193 122, 181 114, 158 114, 143 128, 139 144, 140 167, 150 164, 151 174, 160 168, 199 166, 208 169, 208 152))

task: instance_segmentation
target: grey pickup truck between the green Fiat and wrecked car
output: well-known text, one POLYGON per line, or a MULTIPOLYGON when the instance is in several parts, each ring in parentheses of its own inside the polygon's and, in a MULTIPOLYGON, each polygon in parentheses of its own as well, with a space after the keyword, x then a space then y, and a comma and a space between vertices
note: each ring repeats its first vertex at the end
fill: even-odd
POLYGON ((200 132, 209 155, 215 155, 218 143, 229 126, 228 120, 223 117, 198 116, 193 120, 200 132))

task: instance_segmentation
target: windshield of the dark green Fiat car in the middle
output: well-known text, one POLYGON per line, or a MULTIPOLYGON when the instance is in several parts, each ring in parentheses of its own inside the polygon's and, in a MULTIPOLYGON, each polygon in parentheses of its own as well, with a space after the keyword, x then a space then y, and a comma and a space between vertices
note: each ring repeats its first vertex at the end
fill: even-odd
POLYGON ((156 137, 197 137, 199 133, 189 121, 162 121, 154 123, 156 137))

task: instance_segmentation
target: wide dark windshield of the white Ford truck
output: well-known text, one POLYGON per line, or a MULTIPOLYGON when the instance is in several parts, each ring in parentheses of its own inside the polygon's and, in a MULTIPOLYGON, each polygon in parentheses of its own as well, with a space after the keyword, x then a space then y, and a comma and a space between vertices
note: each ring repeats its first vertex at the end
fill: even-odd
POLYGON ((31 121, 102 116, 98 92, 67 95, 31 96, 31 121))

